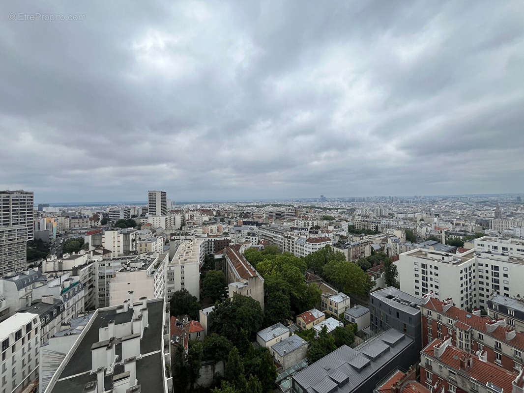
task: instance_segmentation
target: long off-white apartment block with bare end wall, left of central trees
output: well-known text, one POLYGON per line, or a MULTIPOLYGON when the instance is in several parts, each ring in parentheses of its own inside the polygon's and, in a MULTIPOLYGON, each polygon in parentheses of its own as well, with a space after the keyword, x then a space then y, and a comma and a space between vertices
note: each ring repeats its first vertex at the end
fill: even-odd
POLYGON ((180 244, 167 266, 168 300, 181 289, 187 289, 196 299, 200 299, 200 266, 204 257, 204 239, 186 240, 180 244))

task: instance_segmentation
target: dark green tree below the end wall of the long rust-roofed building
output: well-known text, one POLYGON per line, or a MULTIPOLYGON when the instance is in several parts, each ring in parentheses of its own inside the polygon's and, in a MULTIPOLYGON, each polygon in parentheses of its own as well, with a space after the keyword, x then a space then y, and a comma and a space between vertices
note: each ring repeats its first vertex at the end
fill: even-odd
POLYGON ((241 329, 249 337, 255 336, 262 326, 263 315, 259 302, 235 293, 233 300, 227 298, 215 304, 213 312, 208 315, 209 331, 223 335, 235 345, 241 329))

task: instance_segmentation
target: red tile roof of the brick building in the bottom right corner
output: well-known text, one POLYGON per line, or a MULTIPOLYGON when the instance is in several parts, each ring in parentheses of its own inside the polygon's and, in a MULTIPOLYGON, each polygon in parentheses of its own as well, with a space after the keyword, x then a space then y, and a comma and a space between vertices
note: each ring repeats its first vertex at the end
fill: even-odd
MULTIPOLYGON (((434 355, 434 347, 441 343, 441 340, 435 339, 425 347, 422 352, 429 356, 436 357, 434 355)), ((439 360, 448 367, 461 371, 461 373, 465 372, 468 377, 476 379, 479 384, 486 385, 486 383, 490 382, 499 388, 503 388, 505 392, 512 391, 511 383, 518 376, 517 373, 501 368, 494 363, 483 362, 477 356, 470 355, 451 345, 445 348, 439 360), (467 359, 468 357, 472 359, 471 366, 467 366, 465 370, 460 370, 461 359, 467 359)), ((520 381, 520 386, 522 386, 521 384, 522 381, 520 381)))

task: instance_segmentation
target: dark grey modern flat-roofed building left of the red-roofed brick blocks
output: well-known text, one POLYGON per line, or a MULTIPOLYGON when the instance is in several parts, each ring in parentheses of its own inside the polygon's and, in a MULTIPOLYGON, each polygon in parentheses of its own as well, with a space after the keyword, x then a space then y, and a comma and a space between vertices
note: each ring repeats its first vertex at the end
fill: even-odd
POLYGON ((395 287, 369 294, 370 326, 373 331, 393 328, 412 337, 417 351, 421 348, 421 300, 395 287))

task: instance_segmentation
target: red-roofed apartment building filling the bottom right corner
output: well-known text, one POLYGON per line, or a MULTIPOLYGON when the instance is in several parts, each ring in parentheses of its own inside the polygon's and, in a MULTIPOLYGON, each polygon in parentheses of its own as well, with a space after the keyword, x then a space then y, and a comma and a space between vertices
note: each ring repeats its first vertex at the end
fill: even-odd
POLYGON ((522 393, 522 368, 515 372, 486 362, 452 344, 434 339, 420 352, 420 382, 431 392, 522 393))

